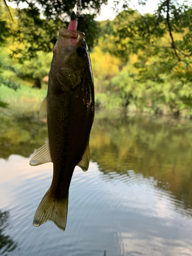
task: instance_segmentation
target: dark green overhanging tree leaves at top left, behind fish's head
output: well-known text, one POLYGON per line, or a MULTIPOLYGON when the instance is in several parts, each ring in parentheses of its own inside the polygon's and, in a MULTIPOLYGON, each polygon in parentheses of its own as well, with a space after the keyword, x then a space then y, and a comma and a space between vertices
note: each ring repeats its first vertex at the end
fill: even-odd
MULTIPOLYGON (((78 16, 78 30, 86 34, 87 43, 90 48, 93 47, 98 33, 97 22, 94 18, 99 13, 101 5, 106 4, 107 1, 86 0, 82 2, 83 11, 78 16)), ((14 13, 10 11, 12 20, 10 18, 8 22, 4 14, 7 6, 5 4, 1 5, 0 46, 7 37, 12 37, 14 41, 25 45, 25 48, 18 46, 11 54, 11 56, 18 57, 20 61, 34 57, 37 51, 52 51, 59 29, 68 26, 70 15, 76 4, 73 0, 11 0, 10 2, 17 5, 23 4, 27 7, 24 9, 17 8, 14 13), (12 30, 15 17, 18 26, 17 29, 12 30)), ((8 11, 7 15, 9 15, 8 11)))

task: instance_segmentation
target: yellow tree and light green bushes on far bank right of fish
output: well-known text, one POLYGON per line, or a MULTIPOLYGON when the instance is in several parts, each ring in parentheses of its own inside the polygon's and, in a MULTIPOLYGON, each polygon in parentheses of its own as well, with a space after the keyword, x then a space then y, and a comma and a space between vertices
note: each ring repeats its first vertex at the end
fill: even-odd
MULTIPOLYGON (((115 23, 113 22, 113 26, 115 23)), ((98 46, 91 53, 95 102, 99 108, 119 109, 172 115, 191 115, 192 88, 190 82, 181 84, 172 75, 161 75, 159 79, 140 79, 140 70, 134 67, 137 54, 129 60, 109 54, 115 49, 111 35, 99 38, 98 46), (105 45, 103 45, 105 41, 105 45), (112 46, 112 47, 111 47, 112 46)), ((155 61, 155 57, 151 58, 155 61)))

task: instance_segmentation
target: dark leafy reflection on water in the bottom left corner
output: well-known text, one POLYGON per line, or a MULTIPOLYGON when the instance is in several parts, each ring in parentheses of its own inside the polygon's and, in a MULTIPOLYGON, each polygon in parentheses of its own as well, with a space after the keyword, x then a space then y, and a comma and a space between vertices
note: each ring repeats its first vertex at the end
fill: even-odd
POLYGON ((11 252, 16 249, 17 243, 4 234, 5 229, 8 227, 9 211, 2 212, 0 210, 0 255, 8 255, 8 252, 11 252))

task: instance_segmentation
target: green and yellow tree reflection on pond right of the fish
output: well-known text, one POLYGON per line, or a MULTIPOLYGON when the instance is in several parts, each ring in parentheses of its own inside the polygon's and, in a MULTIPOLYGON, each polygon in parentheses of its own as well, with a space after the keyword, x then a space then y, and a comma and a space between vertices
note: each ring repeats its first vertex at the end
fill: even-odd
POLYGON ((147 117, 102 118, 94 123, 90 143, 92 159, 108 179, 136 182, 142 174, 155 187, 167 191, 176 209, 191 215, 190 122, 182 125, 178 120, 170 125, 147 117))

